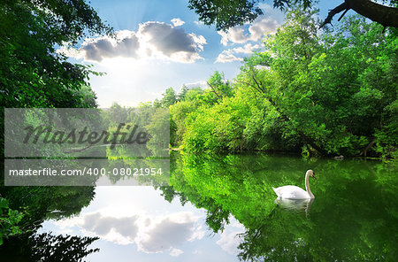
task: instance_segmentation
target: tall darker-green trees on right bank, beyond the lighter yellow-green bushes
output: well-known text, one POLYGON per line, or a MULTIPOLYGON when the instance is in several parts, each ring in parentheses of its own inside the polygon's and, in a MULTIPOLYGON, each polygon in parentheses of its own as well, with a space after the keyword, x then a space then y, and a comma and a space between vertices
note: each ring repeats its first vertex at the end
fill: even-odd
POLYGON ((266 51, 247 59, 238 81, 264 97, 287 124, 284 133, 299 135, 308 151, 366 155, 378 143, 376 150, 392 157, 396 37, 381 29, 350 17, 318 35, 311 13, 292 10, 265 40, 266 51))

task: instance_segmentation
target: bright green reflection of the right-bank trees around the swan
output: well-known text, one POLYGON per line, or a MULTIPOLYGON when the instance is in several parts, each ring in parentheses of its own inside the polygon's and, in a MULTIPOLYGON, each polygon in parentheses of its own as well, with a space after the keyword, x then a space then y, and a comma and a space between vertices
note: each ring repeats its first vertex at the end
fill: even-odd
POLYGON ((396 165, 360 160, 264 155, 177 159, 165 199, 179 196, 208 211, 223 230, 229 214, 246 227, 239 258, 267 261, 394 260, 398 237, 396 165), (310 212, 277 206, 272 186, 303 187, 313 168, 316 196, 310 212))

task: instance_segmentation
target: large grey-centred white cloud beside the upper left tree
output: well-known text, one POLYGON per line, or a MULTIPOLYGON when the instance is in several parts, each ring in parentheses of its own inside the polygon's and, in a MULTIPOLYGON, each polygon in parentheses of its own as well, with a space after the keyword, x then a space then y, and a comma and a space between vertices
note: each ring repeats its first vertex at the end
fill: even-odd
POLYGON ((115 32, 116 38, 99 36, 86 39, 79 50, 66 46, 57 50, 68 57, 84 58, 84 60, 101 62, 105 58, 160 58, 180 63, 194 63, 203 59, 199 51, 203 51, 206 39, 203 35, 188 34, 184 29, 176 27, 184 22, 172 19, 174 27, 161 22, 140 24, 137 32, 122 30, 115 32))

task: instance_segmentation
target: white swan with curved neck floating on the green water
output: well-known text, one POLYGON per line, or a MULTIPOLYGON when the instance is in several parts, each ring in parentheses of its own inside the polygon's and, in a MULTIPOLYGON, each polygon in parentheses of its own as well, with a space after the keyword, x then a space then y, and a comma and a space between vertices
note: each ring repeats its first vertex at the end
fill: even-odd
POLYGON ((284 186, 284 187, 279 187, 279 188, 272 188, 275 193, 277 194, 278 198, 285 198, 285 199, 309 199, 309 198, 315 198, 315 196, 312 194, 311 189, 310 189, 310 176, 312 176, 314 179, 316 179, 314 172, 312 170, 307 171, 305 173, 305 191, 302 188, 296 187, 296 186, 284 186))

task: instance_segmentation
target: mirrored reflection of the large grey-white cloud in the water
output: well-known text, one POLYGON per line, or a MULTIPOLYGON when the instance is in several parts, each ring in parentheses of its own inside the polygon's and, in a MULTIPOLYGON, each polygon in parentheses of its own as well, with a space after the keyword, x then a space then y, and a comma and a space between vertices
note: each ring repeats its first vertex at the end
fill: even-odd
POLYGON ((205 232, 198 220, 192 212, 119 218, 94 212, 54 223, 63 228, 77 226, 84 235, 99 236, 112 243, 135 243, 138 250, 146 253, 169 251, 171 256, 178 257, 183 250, 176 247, 203 238, 205 232))

